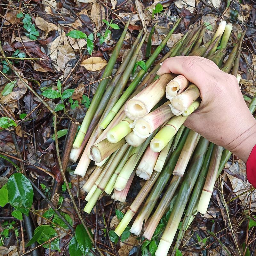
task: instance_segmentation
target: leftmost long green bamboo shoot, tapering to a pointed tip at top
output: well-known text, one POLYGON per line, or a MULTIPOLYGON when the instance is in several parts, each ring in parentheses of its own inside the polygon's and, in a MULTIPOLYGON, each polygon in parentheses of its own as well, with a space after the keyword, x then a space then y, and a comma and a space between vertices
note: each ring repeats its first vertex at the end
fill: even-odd
POLYGON ((87 132, 87 129, 92 121, 92 118, 93 118, 93 115, 95 114, 97 108, 98 108, 98 105, 100 103, 100 100, 103 96, 103 93, 105 92, 105 89, 106 89, 106 86, 108 84, 108 80, 111 73, 112 73, 112 70, 113 70, 113 67, 116 63, 116 59, 118 57, 118 54, 120 52, 120 49, 123 45, 123 41, 124 41, 124 37, 126 35, 126 32, 128 30, 128 26, 130 24, 130 21, 131 21, 131 18, 132 18, 132 15, 130 16, 129 20, 127 21, 125 27, 124 27, 124 31, 122 33, 122 35, 120 36, 117 44, 116 44, 116 47, 108 61, 108 64, 105 68, 105 71, 102 75, 102 80, 100 81, 100 84, 98 85, 98 88, 93 96, 93 99, 92 99, 92 102, 91 102, 91 105, 90 107, 88 108, 87 110, 87 113, 84 117, 84 120, 81 124, 81 127, 80 127, 80 130, 76 136, 76 139, 73 143, 73 148, 80 148, 81 144, 82 144, 82 141, 84 139, 84 136, 85 136, 85 133, 87 132))

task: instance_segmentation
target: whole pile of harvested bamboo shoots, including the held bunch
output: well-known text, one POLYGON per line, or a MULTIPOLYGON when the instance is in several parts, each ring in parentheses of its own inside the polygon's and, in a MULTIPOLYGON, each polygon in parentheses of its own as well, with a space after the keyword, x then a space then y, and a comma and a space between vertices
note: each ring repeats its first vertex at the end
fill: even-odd
MULTIPOLYGON (((206 213, 215 181, 231 154, 183 126, 200 105, 197 86, 182 75, 158 77, 156 71, 168 57, 197 55, 211 59, 223 71, 236 76, 238 65, 234 64, 233 69, 232 65, 240 58, 243 39, 241 36, 222 64, 232 25, 220 21, 215 35, 203 45, 204 29, 195 26, 148 72, 179 22, 149 57, 146 69, 141 69, 126 87, 147 35, 142 37, 143 32, 140 32, 109 86, 108 79, 101 80, 70 156, 76 162, 82 154, 75 174, 84 176, 92 161, 97 165, 83 187, 88 193, 84 208, 87 213, 101 195, 113 193, 112 198, 125 202, 135 174, 146 180, 115 229, 118 236, 136 217, 130 231, 150 240, 172 201, 172 212, 156 256, 167 255, 182 218, 171 255, 179 248, 193 216, 197 212, 206 213)), ((129 21, 103 78, 111 75, 128 25, 129 21)))

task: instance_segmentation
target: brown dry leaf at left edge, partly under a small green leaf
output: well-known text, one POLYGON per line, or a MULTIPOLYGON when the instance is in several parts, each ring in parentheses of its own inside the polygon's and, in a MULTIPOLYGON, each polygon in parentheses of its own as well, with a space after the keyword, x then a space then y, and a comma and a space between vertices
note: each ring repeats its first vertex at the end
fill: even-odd
MULTIPOLYGON (((28 80, 24 79, 24 81, 26 82, 26 84, 28 84, 28 80)), ((25 84, 23 84, 23 82, 18 79, 16 85, 13 87, 13 90, 11 93, 9 93, 6 96, 3 96, 1 94, 1 92, 4 90, 4 86, 1 86, 0 88, 0 102, 2 104, 8 104, 8 103, 12 103, 14 101, 20 100, 21 97, 24 96, 24 94, 27 92, 27 87, 25 86, 25 84)))

